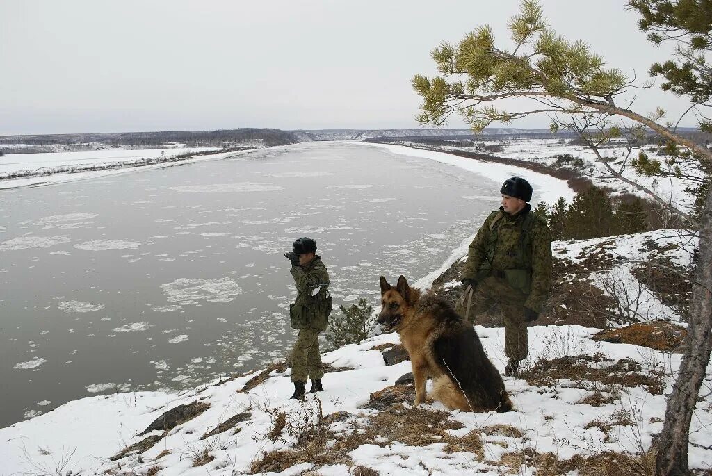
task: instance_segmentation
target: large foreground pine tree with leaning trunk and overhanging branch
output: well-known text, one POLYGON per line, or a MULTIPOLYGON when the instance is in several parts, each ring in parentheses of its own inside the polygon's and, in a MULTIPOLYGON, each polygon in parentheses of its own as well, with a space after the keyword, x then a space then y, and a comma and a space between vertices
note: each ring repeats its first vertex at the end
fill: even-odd
MULTIPOLYGON (((651 74, 664 78, 662 88, 687 97, 699 127, 712 131, 712 120, 705 116, 712 106, 712 65, 707 63, 707 53, 712 51, 712 1, 628 0, 627 7, 640 14, 638 26, 649 33, 652 43, 666 42, 674 47, 669 49, 669 60, 651 66, 651 74)), ((639 85, 621 70, 607 68, 585 42, 558 35, 538 1, 523 0, 520 14, 510 19, 508 28, 513 48, 496 46, 492 29, 486 25, 456 45, 444 42, 435 48, 431 54, 440 75, 416 75, 412 81, 422 96, 417 118, 424 125, 440 126, 451 114, 461 115, 474 131, 481 132, 493 122, 508 124, 546 114, 551 118, 551 129, 565 127, 577 132, 595 153, 597 164, 611 176, 643 191, 698 233, 685 352, 668 399, 655 468, 659 476, 686 474, 690 422, 712 353, 712 180, 705 175, 712 168, 712 150, 679 134, 676 121, 664 120, 664 110, 659 108, 652 114, 632 110, 626 99, 634 96, 639 85), (533 101, 511 101, 521 97, 533 101), (522 104, 535 106, 509 109, 522 104), (641 182, 624 176, 629 163, 614 169, 600 154, 600 147, 618 137, 627 140, 630 152, 649 131, 664 140, 669 159, 656 164, 643 152, 634 166, 644 173, 685 181, 698 193, 700 213, 669 203, 641 182)))

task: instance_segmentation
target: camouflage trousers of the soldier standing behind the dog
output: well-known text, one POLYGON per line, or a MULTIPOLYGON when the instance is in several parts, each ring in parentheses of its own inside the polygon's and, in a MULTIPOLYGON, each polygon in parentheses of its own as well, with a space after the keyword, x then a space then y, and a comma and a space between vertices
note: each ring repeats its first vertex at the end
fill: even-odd
POLYGON ((527 323, 524 321, 524 303, 527 295, 515 290, 505 280, 488 276, 478 283, 470 299, 467 313, 468 292, 457 301, 455 311, 469 322, 476 324, 476 317, 492 312, 497 306, 504 318, 504 354, 511 360, 520 361, 528 355, 527 323))

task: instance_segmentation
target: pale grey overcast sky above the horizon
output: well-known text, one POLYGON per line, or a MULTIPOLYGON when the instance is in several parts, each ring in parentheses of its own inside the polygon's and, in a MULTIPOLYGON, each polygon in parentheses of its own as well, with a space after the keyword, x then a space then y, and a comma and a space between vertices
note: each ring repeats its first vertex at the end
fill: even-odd
MULTIPOLYGON (((542 3, 558 33, 639 80, 665 58, 623 0, 542 3)), ((432 48, 484 23, 506 42, 518 9, 515 0, 1 0, 0 135, 419 127, 410 80, 435 72, 432 48)), ((634 109, 656 105, 676 120, 689 103, 654 88, 634 109)))

